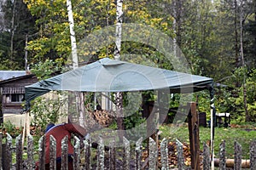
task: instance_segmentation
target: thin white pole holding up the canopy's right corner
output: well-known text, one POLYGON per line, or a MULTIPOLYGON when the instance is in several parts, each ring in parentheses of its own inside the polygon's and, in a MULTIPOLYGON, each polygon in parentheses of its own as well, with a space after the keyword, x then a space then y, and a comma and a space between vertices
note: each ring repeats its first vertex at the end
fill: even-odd
POLYGON ((211 167, 214 170, 214 127, 215 127, 215 106, 214 106, 214 89, 210 88, 210 105, 211 105, 211 167))

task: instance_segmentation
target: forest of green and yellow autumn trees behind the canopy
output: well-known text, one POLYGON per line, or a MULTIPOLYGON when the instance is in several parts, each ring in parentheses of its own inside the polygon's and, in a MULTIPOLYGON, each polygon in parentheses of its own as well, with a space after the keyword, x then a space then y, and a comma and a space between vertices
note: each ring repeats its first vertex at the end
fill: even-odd
MULTIPOLYGON (((116 1, 72 3, 78 42, 116 23, 116 1)), ((44 79, 67 65, 71 43, 66 0, 4 0, 0 9, 0 70, 29 67, 44 79)), ((177 40, 192 73, 216 82, 218 112, 230 112, 234 122, 256 122, 256 0, 125 0, 123 12, 124 23, 152 26, 177 40)), ((113 58, 114 47, 90 51, 90 61, 113 58)), ((139 42, 122 42, 122 53, 173 69, 163 54, 139 42)), ((170 107, 178 105, 175 95, 170 107)), ((208 92, 195 95, 199 110, 209 115, 208 92)))

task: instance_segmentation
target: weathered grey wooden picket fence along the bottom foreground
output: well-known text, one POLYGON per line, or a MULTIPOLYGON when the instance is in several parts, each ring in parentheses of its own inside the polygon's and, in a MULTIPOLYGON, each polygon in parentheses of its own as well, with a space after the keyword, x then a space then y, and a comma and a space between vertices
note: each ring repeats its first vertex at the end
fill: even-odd
MULTIPOLYGON (((13 145, 12 137, 7 133, 4 138, 3 134, 0 133, 0 170, 32 170, 35 168, 34 155, 38 152, 38 160, 40 161, 39 169, 44 170, 44 136, 38 141, 38 150, 33 148, 33 138, 28 136, 26 150, 22 150, 21 134, 15 139, 15 146, 13 145), (23 154, 27 154, 27 158, 23 160, 23 154), (12 156, 15 156, 15 162, 13 162, 12 156)), ((55 139, 51 136, 51 147, 50 147, 50 169, 55 169, 55 139)), ((162 139, 160 146, 154 141, 154 139, 148 139, 148 163, 143 163, 143 139, 139 139, 135 147, 131 147, 130 141, 123 139, 122 154, 118 154, 115 147, 110 146, 106 150, 102 139, 99 139, 97 149, 91 148, 90 139, 80 140, 74 137, 74 155, 73 155, 73 169, 171 169, 168 162, 168 148, 167 139, 162 139), (81 144, 83 144, 81 150, 81 144), (93 155, 93 152, 96 154, 93 155), (131 154, 133 153, 133 154, 131 154), (108 155, 108 156, 107 156, 108 155), (132 156, 131 156, 132 155, 132 156), (92 156, 96 157, 96 160, 92 159, 92 156), (84 163, 81 163, 81 160, 84 163), (160 161, 159 161, 160 159, 160 161)), ((183 144, 178 140, 177 144, 177 167, 176 169, 191 169, 186 167, 184 164, 183 157, 183 144)), ((61 143, 61 169, 67 170, 67 137, 62 139, 61 143)), ((218 167, 219 169, 226 169, 226 156, 225 156, 225 143, 220 144, 219 150, 218 167)), ((211 168, 210 151, 207 144, 203 146, 203 154, 201 160, 201 169, 208 170, 211 168)), ((235 142, 235 162, 234 169, 241 169, 241 144, 235 142)), ((256 169, 256 141, 253 141, 250 146, 250 163, 247 167, 251 170, 256 169)))

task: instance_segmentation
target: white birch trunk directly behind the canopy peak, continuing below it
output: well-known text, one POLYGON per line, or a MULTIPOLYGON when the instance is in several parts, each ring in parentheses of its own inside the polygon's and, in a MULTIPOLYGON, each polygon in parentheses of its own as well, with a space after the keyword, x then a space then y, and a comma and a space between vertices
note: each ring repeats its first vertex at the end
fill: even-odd
MULTIPOLYGON (((121 41, 122 41, 122 22, 123 22, 123 0, 117 0, 116 8, 116 40, 114 49, 114 59, 120 59, 121 41)), ((125 126, 123 122, 123 95, 118 92, 115 96, 116 113, 117 113, 117 125, 119 129, 119 141, 123 141, 125 126)))

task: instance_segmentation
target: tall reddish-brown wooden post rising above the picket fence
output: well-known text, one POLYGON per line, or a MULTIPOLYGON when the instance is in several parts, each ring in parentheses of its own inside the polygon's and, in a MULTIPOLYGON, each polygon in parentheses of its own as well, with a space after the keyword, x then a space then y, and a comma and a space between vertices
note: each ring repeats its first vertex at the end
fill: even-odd
POLYGON ((189 144, 192 169, 200 168, 199 160, 199 126, 198 126, 198 113, 196 112, 196 103, 189 103, 189 144))

